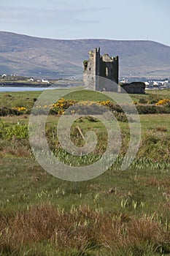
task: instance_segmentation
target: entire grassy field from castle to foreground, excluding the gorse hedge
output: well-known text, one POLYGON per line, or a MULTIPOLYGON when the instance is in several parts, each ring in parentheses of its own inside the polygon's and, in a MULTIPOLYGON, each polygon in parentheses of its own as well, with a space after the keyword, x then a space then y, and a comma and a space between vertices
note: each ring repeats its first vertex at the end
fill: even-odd
MULTIPOLYGON (((0 104, 31 108, 41 92, 1 93, 0 104)), ((58 94, 63 91, 58 91, 58 94)), ((107 100, 108 95, 78 92, 67 99, 107 100)), ((170 91, 153 97, 170 98, 170 91)), ((133 101, 150 99, 132 95, 133 101)), ((51 176, 35 161, 28 142, 28 114, 0 119, 0 255, 170 255, 170 114, 139 115, 142 140, 134 162, 120 170, 128 148, 128 122, 119 121, 120 155, 104 174, 71 182, 51 176)), ((58 115, 47 118, 47 140, 56 138, 58 115)), ((82 146, 92 129, 99 138, 93 161, 103 154, 107 138, 99 121, 82 118, 71 137, 82 146)), ((63 160, 66 154, 63 154, 63 160)))

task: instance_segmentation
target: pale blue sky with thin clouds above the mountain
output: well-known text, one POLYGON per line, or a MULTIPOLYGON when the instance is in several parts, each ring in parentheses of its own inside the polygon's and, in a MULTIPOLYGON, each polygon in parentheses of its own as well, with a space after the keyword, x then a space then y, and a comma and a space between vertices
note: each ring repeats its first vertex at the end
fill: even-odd
POLYGON ((0 31, 53 39, 149 39, 170 46, 169 10, 169 0, 0 0, 0 31))

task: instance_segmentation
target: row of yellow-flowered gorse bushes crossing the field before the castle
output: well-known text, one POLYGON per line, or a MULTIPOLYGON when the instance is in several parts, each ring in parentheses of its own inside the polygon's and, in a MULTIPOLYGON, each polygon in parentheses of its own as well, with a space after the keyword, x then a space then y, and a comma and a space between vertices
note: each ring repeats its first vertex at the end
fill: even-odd
MULTIPOLYGON (((152 99, 152 97, 151 97, 152 99)), ((170 113, 170 99, 158 99, 153 97, 152 105, 147 105, 146 103, 150 103, 150 99, 147 101, 146 99, 139 98, 139 105, 136 101, 134 101, 134 105, 139 112, 139 114, 146 113, 170 113), (154 105, 153 105, 154 103, 154 105)), ((133 113, 133 108, 131 105, 125 105, 125 109, 128 113, 133 113)), ((47 109, 50 110, 50 114, 68 114, 68 113, 78 113, 78 114, 102 114, 107 111, 107 109, 115 113, 115 116, 119 121, 127 121, 125 118, 123 109, 120 105, 115 104, 109 100, 106 101, 81 101, 78 102, 75 99, 64 99, 61 98, 58 102, 52 105, 37 105, 34 108, 34 115, 41 115, 47 113, 47 109), (99 108, 103 106, 104 108, 99 108), (120 116, 117 113, 122 113, 120 116)), ((29 114, 31 113, 31 109, 26 108, 24 106, 13 107, 13 108, 0 108, 0 116, 9 116, 9 115, 21 115, 23 113, 29 114)))

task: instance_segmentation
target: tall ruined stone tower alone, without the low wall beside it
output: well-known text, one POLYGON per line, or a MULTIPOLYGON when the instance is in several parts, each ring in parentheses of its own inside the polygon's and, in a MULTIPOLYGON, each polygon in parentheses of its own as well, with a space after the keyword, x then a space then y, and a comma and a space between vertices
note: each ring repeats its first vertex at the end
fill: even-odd
POLYGON ((83 61, 83 81, 85 89, 93 91, 115 91, 115 86, 109 80, 118 83, 118 56, 109 57, 107 53, 101 56, 100 48, 89 50, 88 61, 83 61), (100 78, 107 78, 104 80, 100 78))

